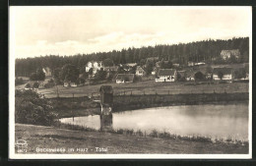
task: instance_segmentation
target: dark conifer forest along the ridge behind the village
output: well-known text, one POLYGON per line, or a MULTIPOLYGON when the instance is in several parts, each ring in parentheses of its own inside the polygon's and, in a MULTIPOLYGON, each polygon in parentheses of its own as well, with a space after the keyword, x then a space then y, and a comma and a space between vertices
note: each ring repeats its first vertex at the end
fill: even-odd
POLYGON ((205 62, 208 64, 221 63, 248 63, 249 61, 249 37, 233 37, 232 39, 208 39, 189 43, 159 44, 141 48, 123 48, 109 52, 96 52, 91 54, 76 55, 45 55, 34 58, 16 59, 16 76, 31 76, 38 68, 49 67, 52 71, 71 64, 79 69, 85 67, 89 61, 103 61, 110 59, 115 65, 125 63, 142 64, 149 57, 159 57, 160 60, 168 60, 181 66, 188 61, 205 62), (221 51, 239 49, 240 58, 234 62, 224 62, 221 59, 221 51))

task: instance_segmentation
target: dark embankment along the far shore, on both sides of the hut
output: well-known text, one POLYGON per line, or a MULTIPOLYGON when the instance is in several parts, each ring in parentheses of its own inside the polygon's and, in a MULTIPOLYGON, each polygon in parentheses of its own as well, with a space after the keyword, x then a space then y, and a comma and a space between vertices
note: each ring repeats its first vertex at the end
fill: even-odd
MULTIPOLYGON (((95 97, 94 99, 99 99, 95 97)), ((84 97, 48 98, 60 117, 87 116, 100 113, 100 105, 93 99, 84 97)), ((224 104, 228 102, 248 102, 248 92, 235 93, 186 93, 186 94, 147 94, 147 95, 115 95, 114 112, 141 108, 197 105, 197 104, 224 104)))

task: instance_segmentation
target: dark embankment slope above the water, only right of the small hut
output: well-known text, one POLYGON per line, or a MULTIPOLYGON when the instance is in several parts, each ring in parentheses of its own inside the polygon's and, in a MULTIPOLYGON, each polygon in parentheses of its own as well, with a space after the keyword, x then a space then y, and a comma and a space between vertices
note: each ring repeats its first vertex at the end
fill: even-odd
POLYGON ((233 101, 248 102, 248 100, 249 93, 247 92, 120 95, 114 97, 114 111, 171 105, 221 104, 233 101))

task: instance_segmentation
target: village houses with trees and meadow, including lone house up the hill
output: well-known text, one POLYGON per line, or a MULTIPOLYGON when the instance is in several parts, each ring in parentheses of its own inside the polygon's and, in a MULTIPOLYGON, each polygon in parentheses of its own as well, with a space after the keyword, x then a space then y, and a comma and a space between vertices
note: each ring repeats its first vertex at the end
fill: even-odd
MULTIPOLYGON (((239 56, 240 52, 238 49, 223 50, 220 53, 223 61, 228 61, 232 58, 238 59, 239 56)), ((146 93, 155 93, 156 90, 161 91, 161 88, 166 86, 168 91, 172 92, 186 93, 195 91, 195 87, 191 85, 199 85, 199 87, 196 87, 199 90, 198 92, 207 92, 208 90, 213 92, 214 90, 224 89, 223 86, 226 85, 222 85, 222 83, 236 83, 234 87, 231 86, 233 89, 230 89, 231 91, 229 92, 233 92, 235 88, 235 90, 242 89, 243 91, 248 89, 247 85, 247 87, 244 87, 244 83, 247 84, 249 81, 249 67, 246 63, 212 65, 205 62, 189 61, 186 65, 179 65, 172 64, 168 60, 160 60, 159 57, 147 58, 141 64, 113 64, 109 59, 106 61, 107 63, 90 61, 83 69, 66 65, 62 70, 73 70, 74 72, 66 74, 63 82, 59 78, 61 70, 52 71, 45 67, 39 72, 36 71, 37 75, 41 73, 41 75, 45 76, 44 80, 32 80, 32 76, 35 74, 31 78, 17 77, 16 81, 22 80, 23 84, 17 85, 16 88, 34 89, 48 97, 56 97, 62 93, 66 96, 68 94, 74 95, 74 93, 75 95, 77 94, 76 96, 94 95, 94 93, 98 92, 97 89, 100 84, 111 84, 117 87, 116 93, 125 93, 125 90, 127 90, 127 92, 134 94, 136 94, 136 91, 137 93, 145 93, 145 90, 146 93), (180 87, 181 84, 187 86, 180 87), (207 84, 216 85, 213 87, 207 84), (153 86, 157 89, 153 90, 153 86)), ((228 86, 225 88, 228 90, 228 86)), ((162 90, 164 91, 164 89, 162 90)))

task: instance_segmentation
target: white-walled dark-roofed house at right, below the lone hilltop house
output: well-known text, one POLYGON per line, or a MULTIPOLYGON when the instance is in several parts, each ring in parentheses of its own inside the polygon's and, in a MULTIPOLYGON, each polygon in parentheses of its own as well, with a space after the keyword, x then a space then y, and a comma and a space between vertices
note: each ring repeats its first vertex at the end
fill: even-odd
POLYGON ((232 68, 214 68, 213 80, 214 81, 232 81, 233 70, 232 68))

